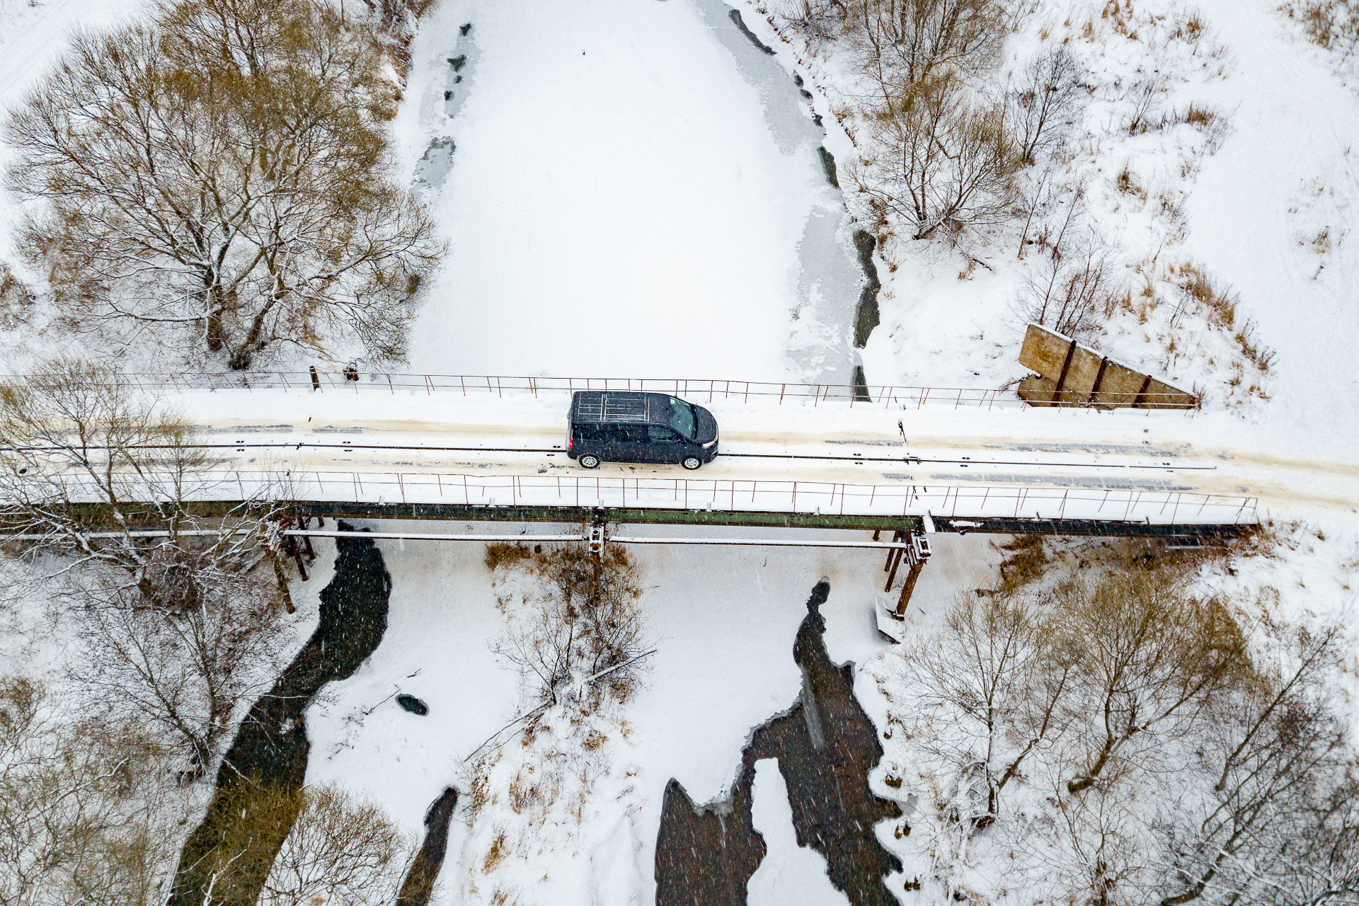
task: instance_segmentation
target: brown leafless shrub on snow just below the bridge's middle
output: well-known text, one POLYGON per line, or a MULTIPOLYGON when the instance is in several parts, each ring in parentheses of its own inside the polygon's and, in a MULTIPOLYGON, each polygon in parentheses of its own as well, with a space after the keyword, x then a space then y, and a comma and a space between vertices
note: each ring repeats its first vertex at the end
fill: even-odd
POLYGON ((594 560, 583 543, 568 543, 546 547, 522 568, 537 588, 520 607, 501 599, 510 626, 493 651, 520 671, 537 702, 569 702, 588 713, 603 695, 626 701, 641 670, 629 662, 646 651, 632 557, 606 546, 594 560), (586 682, 609 670, 598 682, 586 682))

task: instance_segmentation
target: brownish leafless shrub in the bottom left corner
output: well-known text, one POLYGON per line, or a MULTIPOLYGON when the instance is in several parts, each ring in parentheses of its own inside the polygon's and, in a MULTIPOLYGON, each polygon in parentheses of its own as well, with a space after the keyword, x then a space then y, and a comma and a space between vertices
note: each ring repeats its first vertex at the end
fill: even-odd
POLYGON ((0 679, 0 902, 147 903, 174 864, 160 751, 135 724, 67 723, 0 679))

